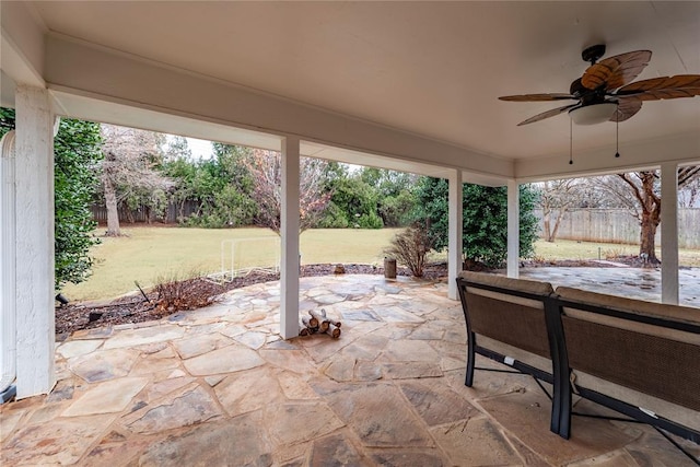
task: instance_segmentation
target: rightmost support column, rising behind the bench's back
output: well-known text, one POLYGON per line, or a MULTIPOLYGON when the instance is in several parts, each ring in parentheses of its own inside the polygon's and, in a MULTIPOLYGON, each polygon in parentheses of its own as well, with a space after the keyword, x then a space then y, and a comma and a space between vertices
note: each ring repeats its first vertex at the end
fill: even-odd
POLYGON ((678 166, 661 166, 661 301, 678 304, 678 166))

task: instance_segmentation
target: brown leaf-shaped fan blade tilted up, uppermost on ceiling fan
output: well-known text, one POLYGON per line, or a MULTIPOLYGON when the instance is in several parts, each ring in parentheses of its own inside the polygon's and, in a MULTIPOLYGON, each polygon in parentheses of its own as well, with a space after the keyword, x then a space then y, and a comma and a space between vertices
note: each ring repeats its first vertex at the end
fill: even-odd
POLYGON ((588 67, 581 77, 581 84, 588 90, 598 89, 602 84, 606 90, 616 90, 637 78, 651 58, 650 50, 628 51, 606 58, 588 67))

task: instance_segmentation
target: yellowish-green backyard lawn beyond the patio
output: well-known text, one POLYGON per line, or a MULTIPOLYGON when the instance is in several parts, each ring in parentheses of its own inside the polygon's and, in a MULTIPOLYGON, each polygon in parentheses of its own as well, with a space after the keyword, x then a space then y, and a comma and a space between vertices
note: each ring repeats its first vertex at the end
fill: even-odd
MULTIPOLYGON (((61 291, 71 301, 102 300, 136 290, 133 281, 150 288, 164 278, 187 278, 221 271, 222 242, 228 242, 224 268, 231 268, 231 242, 238 241, 235 268, 272 266, 279 257, 279 237, 266 229, 178 229, 135 227, 124 230, 129 236, 102 240, 93 248, 93 276, 80 284, 67 284, 61 291), (252 238, 252 240, 245 240, 252 238)), ((398 229, 312 230, 301 236, 302 264, 343 262, 376 264, 383 249, 398 229)), ((633 255, 635 245, 557 241, 538 241, 536 256, 542 259, 606 259, 607 256, 633 255)), ((679 252, 680 265, 700 267, 700 250, 679 252)), ((444 254, 430 260, 445 260, 444 254)))

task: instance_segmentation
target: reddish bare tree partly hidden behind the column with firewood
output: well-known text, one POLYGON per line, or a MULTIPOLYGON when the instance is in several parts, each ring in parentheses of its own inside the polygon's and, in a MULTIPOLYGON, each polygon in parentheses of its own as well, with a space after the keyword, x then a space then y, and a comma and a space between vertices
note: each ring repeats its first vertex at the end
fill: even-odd
MULTIPOLYGON (((248 162, 255 180, 253 198, 258 205, 256 222, 278 235, 282 212, 282 159, 279 152, 256 149, 248 162)), ((324 192, 327 162, 319 159, 300 159, 299 215, 300 231, 313 226, 328 206, 330 194, 324 192)))

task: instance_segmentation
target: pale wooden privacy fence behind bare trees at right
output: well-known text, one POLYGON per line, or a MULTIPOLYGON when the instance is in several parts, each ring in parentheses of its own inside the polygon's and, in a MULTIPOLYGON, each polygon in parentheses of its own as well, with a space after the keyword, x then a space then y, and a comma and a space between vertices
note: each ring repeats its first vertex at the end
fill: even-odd
MULTIPOLYGON (((544 232, 542 210, 536 209, 539 230, 544 232)), ((551 214, 551 229, 557 219, 551 214)), ((639 220, 627 209, 572 209, 564 213, 557 238, 582 242, 639 244, 639 220)), ((656 230, 656 244, 661 242, 661 225, 656 230)), ((678 246, 700 248, 700 209, 678 209, 678 246)))

